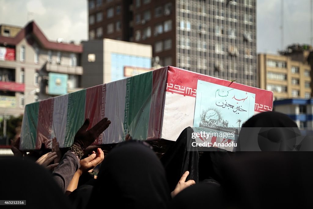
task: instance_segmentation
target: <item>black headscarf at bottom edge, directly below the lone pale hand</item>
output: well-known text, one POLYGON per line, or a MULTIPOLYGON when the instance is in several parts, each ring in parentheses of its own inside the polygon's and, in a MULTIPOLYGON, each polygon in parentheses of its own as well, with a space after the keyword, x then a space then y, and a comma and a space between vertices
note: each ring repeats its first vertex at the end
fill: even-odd
POLYGON ((216 182, 198 183, 178 193, 170 209, 223 208, 222 189, 216 182))

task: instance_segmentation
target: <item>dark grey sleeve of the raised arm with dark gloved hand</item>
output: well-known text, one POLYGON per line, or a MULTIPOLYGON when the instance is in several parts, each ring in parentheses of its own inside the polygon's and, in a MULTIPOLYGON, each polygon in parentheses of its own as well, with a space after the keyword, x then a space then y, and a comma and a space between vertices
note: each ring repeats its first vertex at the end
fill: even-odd
POLYGON ((53 178, 65 192, 77 169, 80 168, 78 157, 73 152, 66 152, 54 169, 53 178))

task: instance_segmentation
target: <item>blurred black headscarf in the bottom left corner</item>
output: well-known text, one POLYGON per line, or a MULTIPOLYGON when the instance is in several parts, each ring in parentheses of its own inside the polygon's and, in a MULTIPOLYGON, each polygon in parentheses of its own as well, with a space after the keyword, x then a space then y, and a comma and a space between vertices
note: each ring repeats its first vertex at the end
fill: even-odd
POLYGON ((1 200, 26 200, 23 208, 69 209, 72 206, 52 175, 27 159, 0 159, 1 200))

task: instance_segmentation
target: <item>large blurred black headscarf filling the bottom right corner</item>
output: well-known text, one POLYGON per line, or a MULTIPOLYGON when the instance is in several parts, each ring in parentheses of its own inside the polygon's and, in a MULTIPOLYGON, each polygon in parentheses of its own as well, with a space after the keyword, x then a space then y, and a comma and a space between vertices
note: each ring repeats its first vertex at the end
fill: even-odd
POLYGON ((243 152, 224 166, 229 208, 311 208, 311 152, 243 152))

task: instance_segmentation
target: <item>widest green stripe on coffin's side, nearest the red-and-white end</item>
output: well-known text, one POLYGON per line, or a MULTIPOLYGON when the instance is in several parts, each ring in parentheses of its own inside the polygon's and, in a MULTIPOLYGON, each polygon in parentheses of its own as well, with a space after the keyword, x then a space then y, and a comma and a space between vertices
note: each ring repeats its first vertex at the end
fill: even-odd
POLYGON ((152 71, 127 78, 125 132, 134 139, 146 139, 149 125, 152 71))

